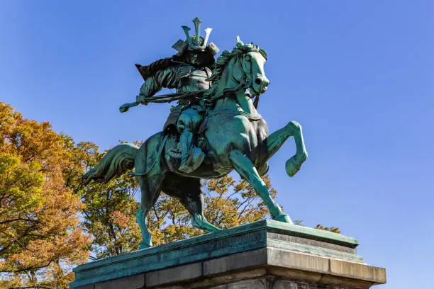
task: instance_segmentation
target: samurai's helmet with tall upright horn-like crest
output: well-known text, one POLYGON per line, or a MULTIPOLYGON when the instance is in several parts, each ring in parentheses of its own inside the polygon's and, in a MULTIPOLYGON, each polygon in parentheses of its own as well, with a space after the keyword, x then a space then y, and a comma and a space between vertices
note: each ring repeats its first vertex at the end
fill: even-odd
POLYGON ((202 38, 200 35, 200 28, 201 28, 202 21, 200 21, 200 19, 196 17, 193 19, 193 23, 194 23, 194 28, 196 30, 196 35, 190 35, 189 33, 190 28, 187 26, 182 26, 182 30, 184 30, 187 39, 185 41, 178 40, 174 45, 172 45, 172 48, 174 48, 174 50, 177 50, 178 55, 182 55, 182 53, 184 53, 185 50, 208 52, 212 56, 216 55, 218 51, 220 51, 218 47, 213 42, 208 44, 208 38, 211 33, 211 30, 213 29, 206 28, 205 38, 202 38))

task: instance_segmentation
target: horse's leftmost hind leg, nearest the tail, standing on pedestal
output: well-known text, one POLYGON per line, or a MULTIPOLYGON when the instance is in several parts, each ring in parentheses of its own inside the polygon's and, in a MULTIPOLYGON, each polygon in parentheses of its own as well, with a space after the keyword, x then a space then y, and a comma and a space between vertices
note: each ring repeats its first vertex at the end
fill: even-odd
POLYGON ((142 242, 139 250, 152 246, 151 234, 148 230, 148 212, 160 196, 161 183, 164 178, 163 174, 154 174, 152 176, 138 176, 138 183, 142 193, 140 200, 140 209, 135 215, 137 223, 142 231, 142 242))

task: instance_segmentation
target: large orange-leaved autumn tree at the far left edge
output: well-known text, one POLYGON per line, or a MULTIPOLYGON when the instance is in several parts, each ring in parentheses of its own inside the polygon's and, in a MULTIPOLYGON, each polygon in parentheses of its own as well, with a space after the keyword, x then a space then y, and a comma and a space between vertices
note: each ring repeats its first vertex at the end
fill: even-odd
POLYGON ((49 123, 0 103, 0 288, 67 288, 87 261, 83 205, 64 186, 69 154, 49 123))

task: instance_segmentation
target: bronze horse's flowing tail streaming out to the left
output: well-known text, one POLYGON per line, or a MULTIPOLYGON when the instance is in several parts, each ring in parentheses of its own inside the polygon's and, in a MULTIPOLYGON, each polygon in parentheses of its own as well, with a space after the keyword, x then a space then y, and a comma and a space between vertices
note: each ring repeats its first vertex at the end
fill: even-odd
POLYGON ((82 176, 84 185, 87 185, 92 180, 97 183, 105 183, 133 169, 138 149, 138 146, 132 144, 122 144, 113 147, 101 159, 99 164, 82 176))

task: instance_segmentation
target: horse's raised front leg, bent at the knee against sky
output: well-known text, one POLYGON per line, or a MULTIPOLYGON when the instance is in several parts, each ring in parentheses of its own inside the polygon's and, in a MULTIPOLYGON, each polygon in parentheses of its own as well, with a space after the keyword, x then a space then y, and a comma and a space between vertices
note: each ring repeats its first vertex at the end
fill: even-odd
POLYGON ((257 146, 252 152, 252 159, 255 160, 255 165, 264 165, 291 136, 294 137, 296 144, 296 154, 286 161, 286 174, 294 176, 308 157, 306 147, 304 146, 301 125, 294 120, 290 121, 284 128, 273 132, 257 146))

